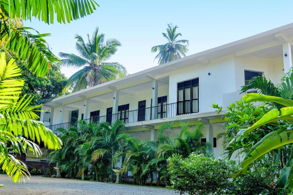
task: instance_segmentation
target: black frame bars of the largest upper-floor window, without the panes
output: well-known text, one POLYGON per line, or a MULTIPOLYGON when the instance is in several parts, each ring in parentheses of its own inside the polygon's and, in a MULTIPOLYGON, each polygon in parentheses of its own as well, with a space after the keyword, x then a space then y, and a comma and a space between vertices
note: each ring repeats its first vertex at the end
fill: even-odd
POLYGON ((199 112, 199 78, 177 83, 177 115, 184 115, 199 112), (197 87, 197 98, 193 97, 193 87, 197 87), (190 89, 190 99, 185 99, 185 89, 190 89), (179 101, 179 91, 183 90, 183 101, 179 101), (193 101, 197 101, 197 112, 193 111, 193 101), (189 106, 186 103, 189 102, 189 106), (182 105, 182 113, 179 113, 179 106, 182 105), (188 108, 189 107, 189 108, 188 108))

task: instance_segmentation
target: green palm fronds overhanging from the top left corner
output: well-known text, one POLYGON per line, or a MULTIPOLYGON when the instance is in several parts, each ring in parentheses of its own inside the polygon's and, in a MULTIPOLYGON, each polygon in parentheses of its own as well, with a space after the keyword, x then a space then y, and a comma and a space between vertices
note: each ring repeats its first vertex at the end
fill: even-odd
POLYGON ((93 0, 0 0, 0 38, 6 49, 28 62, 28 69, 37 76, 45 76, 50 63, 59 62, 47 46, 44 37, 50 34, 32 34, 32 28, 24 27, 21 20, 32 17, 52 24, 82 18, 96 9, 93 0))

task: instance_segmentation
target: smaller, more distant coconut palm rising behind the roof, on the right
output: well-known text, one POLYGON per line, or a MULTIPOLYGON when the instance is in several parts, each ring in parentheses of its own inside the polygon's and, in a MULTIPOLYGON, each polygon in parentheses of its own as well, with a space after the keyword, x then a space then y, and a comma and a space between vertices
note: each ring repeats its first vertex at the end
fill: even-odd
POLYGON ((181 39, 177 40, 179 36, 182 36, 181 33, 176 33, 178 26, 173 26, 171 23, 168 24, 167 34, 162 33, 163 37, 168 40, 168 43, 163 45, 153 46, 151 52, 155 53, 159 51, 159 54, 156 55, 155 59, 159 59, 159 64, 164 64, 176 59, 186 56, 188 51, 188 40, 181 39), (187 44, 187 45, 186 45, 187 44))

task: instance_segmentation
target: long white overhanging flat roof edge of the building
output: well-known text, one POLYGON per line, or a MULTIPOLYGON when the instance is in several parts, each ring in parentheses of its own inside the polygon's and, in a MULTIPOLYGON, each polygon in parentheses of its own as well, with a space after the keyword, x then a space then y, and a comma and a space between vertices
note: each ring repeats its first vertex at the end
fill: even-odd
POLYGON ((110 92, 111 90, 108 88, 109 85, 117 87, 117 89, 120 89, 120 88, 123 88, 123 86, 125 87, 129 85, 130 83, 148 82, 148 81, 151 81, 151 78, 149 77, 153 77, 156 79, 157 75, 161 75, 166 72, 170 72, 173 70, 177 70, 180 68, 185 68, 191 65, 201 63, 199 60, 200 58, 206 59, 206 60, 212 60, 222 56, 234 54, 239 51, 257 47, 263 44, 275 42, 277 41, 275 37, 276 33, 281 33, 285 37, 293 37, 293 23, 290 23, 281 27, 277 27, 272 30, 268 30, 259 34, 255 34, 253 36, 246 37, 244 39, 240 39, 240 40, 237 40, 228 44, 224 44, 212 49, 208 49, 196 54, 192 54, 192 55, 189 55, 189 56, 186 56, 186 57, 183 57, 183 58, 180 58, 165 64, 157 65, 152 68, 148 68, 146 70, 142 70, 137 73, 127 75, 125 77, 121 77, 112 81, 105 82, 103 84, 89 87, 87 89, 80 90, 78 92, 74 92, 74 93, 53 99, 52 101, 44 102, 44 104, 52 105, 55 102, 71 101, 76 98, 79 98, 79 95, 89 96, 91 94, 96 94, 97 96, 97 92, 105 92, 105 93, 110 92), (148 77, 146 77, 146 75, 148 75, 148 77))

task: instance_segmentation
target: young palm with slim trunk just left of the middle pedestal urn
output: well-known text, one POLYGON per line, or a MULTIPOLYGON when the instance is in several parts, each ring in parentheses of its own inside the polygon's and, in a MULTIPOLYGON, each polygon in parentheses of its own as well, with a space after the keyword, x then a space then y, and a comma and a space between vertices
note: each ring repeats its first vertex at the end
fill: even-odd
POLYGON ((101 136, 97 140, 103 145, 103 147, 96 149, 93 152, 92 160, 94 162, 98 161, 105 154, 111 156, 111 181, 113 181, 113 170, 115 165, 115 159, 113 158, 116 152, 121 151, 119 136, 119 130, 125 127, 125 123, 121 120, 117 120, 114 124, 108 122, 98 123, 101 129, 101 136))

